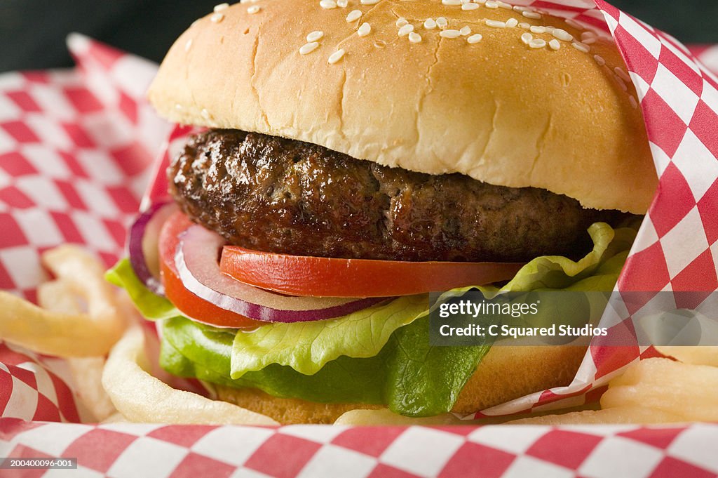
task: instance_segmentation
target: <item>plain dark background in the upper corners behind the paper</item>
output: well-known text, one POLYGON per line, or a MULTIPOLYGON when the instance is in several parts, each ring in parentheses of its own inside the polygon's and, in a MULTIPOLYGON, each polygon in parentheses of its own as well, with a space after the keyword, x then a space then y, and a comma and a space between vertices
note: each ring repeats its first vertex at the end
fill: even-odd
MULTIPOLYGON (((218 3, 221 0, 0 0, 0 72, 71 66, 65 47, 69 32, 159 63, 174 39, 218 3)), ((718 0, 610 3, 684 43, 718 43, 718 0)))

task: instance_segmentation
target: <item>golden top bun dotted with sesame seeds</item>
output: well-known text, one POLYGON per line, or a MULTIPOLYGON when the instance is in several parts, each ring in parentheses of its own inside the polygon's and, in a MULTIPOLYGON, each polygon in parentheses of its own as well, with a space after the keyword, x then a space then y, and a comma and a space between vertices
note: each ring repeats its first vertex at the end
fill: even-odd
POLYGON ((570 41, 559 41, 557 51, 531 48, 521 40, 526 29, 485 24, 516 18, 579 39, 582 30, 562 19, 428 0, 334 9, 262 0, 220 14, 182 34, 151 85, 151 103, 171 121, 299 139, 422 173, 544 188, 590 208, 645 213, 651 202, 656 172, 633 85, 615 74, 625 70, 615 45, 599 39, 588 53, 570 41), (260 9, 249 14, 249 6, 260 9), (353 9, 363 15, 347 22, 353 9), (398 35, 399 17, 421 42, 398 35), (442 29, 423 25, 437 17, 482 40, 440 37, 442 29), (371 31, 359 37, 364 22, 371 31), (301 55, 314 30, 324 32, 320 46, 301 55), (344 57, 327 63, 338 48, 344 57))

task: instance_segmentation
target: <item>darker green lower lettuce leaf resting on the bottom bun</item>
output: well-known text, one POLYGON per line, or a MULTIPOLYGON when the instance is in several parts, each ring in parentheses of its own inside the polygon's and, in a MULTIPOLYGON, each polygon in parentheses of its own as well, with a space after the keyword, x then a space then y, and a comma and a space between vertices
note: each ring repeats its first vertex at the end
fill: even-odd
POLYGON ((429 346, 428 318, 401 327, 374 357, 341 356, 317 373, 270 364, 230 378, 233 334, 187 318, 162 321, 160 364, 182 377, 253 387, 275 397, 317 403, 385 404, 396 413, 432 416, 451 410, 490 346, 429 346))

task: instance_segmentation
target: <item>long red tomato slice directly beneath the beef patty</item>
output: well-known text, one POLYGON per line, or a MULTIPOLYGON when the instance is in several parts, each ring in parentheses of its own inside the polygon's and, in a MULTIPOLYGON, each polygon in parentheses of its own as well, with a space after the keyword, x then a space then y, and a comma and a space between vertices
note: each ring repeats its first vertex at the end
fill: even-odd
POLYGON ((248 285, 290 295, 390 297, 508 280, 523 263, 406 262, 273 254, 225 246, 220 270, 248 285))

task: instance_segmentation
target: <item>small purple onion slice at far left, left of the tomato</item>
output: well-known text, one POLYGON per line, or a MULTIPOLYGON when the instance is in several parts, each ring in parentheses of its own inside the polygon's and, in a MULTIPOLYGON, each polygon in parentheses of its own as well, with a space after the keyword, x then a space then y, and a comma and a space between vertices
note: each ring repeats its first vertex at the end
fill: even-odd
POLYGON ((159 230, 176 209, 174 203, 154 203, 137 216, 129 231, 127 249, 132 270, 146 288, 159 295, 164 295, 159 279, 159 230))

